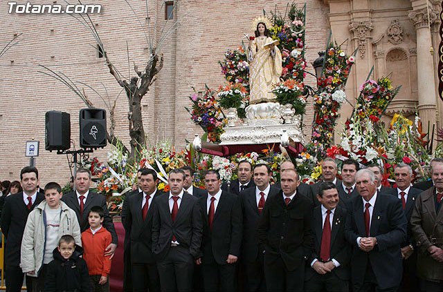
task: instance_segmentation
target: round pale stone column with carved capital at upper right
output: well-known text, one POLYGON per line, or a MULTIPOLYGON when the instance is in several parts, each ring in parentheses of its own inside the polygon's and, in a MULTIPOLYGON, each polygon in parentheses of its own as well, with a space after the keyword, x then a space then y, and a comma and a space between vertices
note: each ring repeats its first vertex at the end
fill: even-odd
MULTIPOLYGON (((422 119, 424 131, 428 130, 428 121, 432 127, 435 124, 436 88, 431 31, 428 24, 428 10, 426 8, 409 12, 408 17, 414 23, 417 33, 417 84, 418 84, 418 111, 422 119)), ((429 8, 431 24, 437 19, 435 12, 429 8)))

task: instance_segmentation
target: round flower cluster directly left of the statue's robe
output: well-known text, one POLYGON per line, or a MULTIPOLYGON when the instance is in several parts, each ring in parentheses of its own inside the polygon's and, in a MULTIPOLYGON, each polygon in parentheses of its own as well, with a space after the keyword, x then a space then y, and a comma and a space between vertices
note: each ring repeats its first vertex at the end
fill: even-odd
POLYGON ((249 64, 243 46, 239 46, 236 50, 226 51, 224 59, 219 61, 219 65, 226 81, 242 84, 248 91, 249 64))

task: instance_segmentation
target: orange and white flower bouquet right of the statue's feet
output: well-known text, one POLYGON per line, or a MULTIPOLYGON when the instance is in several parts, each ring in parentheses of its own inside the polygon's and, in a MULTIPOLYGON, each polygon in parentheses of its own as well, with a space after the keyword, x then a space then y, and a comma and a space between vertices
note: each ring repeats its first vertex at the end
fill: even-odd
POLYGON ((272 93, 279 104, 291 104, 295 115, 304 115, 307 97, 303 95, 304 86, 295 79, 287 79, 275 85, 272 93))

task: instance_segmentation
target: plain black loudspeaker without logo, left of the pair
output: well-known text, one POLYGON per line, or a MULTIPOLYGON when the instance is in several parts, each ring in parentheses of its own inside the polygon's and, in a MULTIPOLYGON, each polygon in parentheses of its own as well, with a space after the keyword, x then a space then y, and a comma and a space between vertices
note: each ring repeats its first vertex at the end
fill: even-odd
POLYGON ((68 150, 71 148, 71 115, 56 110, 45 114, 46 150, 68 150))

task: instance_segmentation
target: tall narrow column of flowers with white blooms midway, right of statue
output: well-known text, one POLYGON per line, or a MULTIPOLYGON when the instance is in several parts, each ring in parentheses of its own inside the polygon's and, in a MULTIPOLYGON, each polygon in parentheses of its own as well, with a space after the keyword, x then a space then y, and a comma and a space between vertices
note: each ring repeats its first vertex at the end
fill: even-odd
POLYGON ((344 92, 350 69, 355 63, 340 46, 329 43, 325 53, 323 75, 318 77, 317 93, 314 95, 314 121, 311 139, 316 144, 328 148, 334 139, 338 110, 346 100, 344 92))

